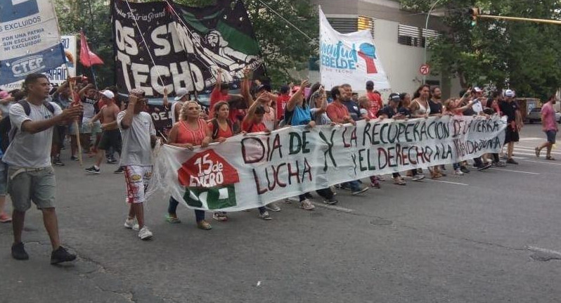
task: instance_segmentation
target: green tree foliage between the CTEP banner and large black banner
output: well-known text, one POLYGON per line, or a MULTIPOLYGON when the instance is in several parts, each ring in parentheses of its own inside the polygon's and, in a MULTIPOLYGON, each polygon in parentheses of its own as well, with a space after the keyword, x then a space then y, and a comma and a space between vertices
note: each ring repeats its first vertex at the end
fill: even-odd
MULTIPOLYGON (((113 67, 113 43, 108 1, 105 0, 56 0, 56 14, 61 34, 76 34, 78 39, 78 56, 80 48, 80 30, 84 30, 88 44, 104 65, 94 65, 100 88, 115 83, 113 67)), ((91 69, 82 66, 77 58, 77 75, 91 77, 91 69)))

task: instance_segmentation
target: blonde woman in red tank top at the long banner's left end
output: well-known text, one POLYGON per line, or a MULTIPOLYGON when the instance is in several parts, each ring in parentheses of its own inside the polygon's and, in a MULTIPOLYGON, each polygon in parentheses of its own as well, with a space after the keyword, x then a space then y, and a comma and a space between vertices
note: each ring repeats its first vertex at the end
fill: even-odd
MULTIPOLYGON (((169 131, 167 143, 170 146, 177 146, 180 148, 190 148, 195 146, 207 147, 212 140, 212 133, 207 127, 207 122, 200 118, 200 108, 197 102, 187 101, 181 108, 179 114, 181 119, 177 122, 172 130, 169 131)), ((167 208, 167 221, 169 223, 181 222, 177 218, 177 205, 179 202, 173 197, 169 198, 169 206, 167 208)), ((205 231, 212 228, 210 224, 205 221, 205 211, 195 209, 195 218, 197 219, 197 226, 205 231)))

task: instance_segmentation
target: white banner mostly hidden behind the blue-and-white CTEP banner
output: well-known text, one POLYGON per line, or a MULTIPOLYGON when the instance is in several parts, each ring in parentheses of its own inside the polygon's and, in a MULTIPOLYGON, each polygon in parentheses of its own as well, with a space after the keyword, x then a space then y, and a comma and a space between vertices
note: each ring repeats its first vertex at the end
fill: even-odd
MULTIPOLYGON (((67 58, 68 71, 70 75, 67 75, 66 68, 64 65, 56 67, 54 70, 49 70, 49 72, 44 72, 47 77, 49 77, 49 82, 52 84, 63 84, 67 77, 76 76, 76 59, 77 59, 77 42, 76 36, 61 36, 60 42, 64 46, 64 53, 67 58), (72 60, 70 60, 72 59, 72 60)), ((4 91, 11 91, 12 89, 21 89, 23 80, 18 82, 13 82, 9 84, 0 85, 0 89, 4 91)))

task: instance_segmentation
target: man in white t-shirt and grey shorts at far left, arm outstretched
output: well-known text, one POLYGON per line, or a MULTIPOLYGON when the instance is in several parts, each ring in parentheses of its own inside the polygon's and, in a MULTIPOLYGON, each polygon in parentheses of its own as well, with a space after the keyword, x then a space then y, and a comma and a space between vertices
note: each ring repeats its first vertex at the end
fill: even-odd
POLYGON ((61 110, 56 103, 48 102, 49 79, 45 75, 31 74, 24 82, 27 99, 10 108, 11 142, 4 155, 8 164, 8 193, 13 202, 12 257, 29 259, 22 238, 25 212, 31 201, 43 212, 43 221, 53 252, 51 264, 76 259, 60 246, 58 220, 55 212, 56 183, 51 167, 53 127, 67 124, 82 115, 82 105, 71 105, 61 110))

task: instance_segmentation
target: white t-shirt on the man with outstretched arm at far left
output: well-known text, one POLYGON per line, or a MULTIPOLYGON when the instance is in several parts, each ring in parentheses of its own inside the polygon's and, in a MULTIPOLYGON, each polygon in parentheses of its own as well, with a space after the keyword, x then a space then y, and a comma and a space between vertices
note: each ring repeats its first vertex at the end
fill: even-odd
POLYGON ((60 115, 63 110, 58 104, 51 102, 55 109, 54 115, 45 105, 31 103, 30 115, 25 115, 23 106, 16 103, 10 108, 12 131, 16 131, 13 140, 6 150, 2 160, 14 167, 41 168, 51 166, 51 143, 53 141, 53 127, 36 134, 21 131, 21 124, 27 120, 49 120, 60 115))

